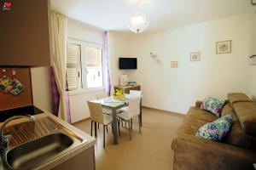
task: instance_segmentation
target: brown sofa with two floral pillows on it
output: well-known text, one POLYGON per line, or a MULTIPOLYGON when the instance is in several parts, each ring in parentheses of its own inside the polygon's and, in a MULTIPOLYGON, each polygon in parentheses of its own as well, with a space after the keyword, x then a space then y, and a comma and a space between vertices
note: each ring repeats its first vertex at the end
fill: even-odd
POLYGON ((228 94, 221 116, 232 114, 230 132, 221 142, 196 137, 197 130, 217 119, 196 102, 172 141, 174 170, 243 170, 256 163, 256 102, 245 94, 228 94))

